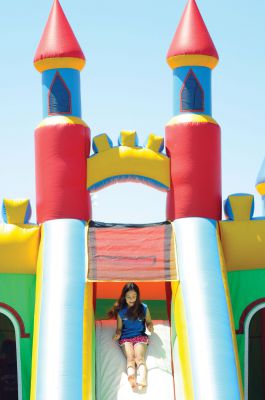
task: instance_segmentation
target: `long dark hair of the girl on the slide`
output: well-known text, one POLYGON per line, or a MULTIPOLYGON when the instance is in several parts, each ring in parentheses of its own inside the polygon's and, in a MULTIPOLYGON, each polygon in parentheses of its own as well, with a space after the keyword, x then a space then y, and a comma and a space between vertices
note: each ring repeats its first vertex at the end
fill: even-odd
POLYGON ((108 318, 117 318, 118 312, 127 306, 125 296, 130 290, 136 292, 137 297, 133 307, 128 308, 127 317, 129 319, 144 318, 144 308, 141 303, 140 290, 139 287, 133 282, 129 282, 124 285, 120 298, 113 304, 113 307, 107 313, 108 318))

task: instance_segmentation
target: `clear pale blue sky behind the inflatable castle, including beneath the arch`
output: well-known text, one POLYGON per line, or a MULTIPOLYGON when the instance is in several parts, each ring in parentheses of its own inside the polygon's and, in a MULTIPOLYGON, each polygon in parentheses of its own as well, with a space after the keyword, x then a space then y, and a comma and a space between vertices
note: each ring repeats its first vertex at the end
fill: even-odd
MULTIPOLYGON (((92 136, 121 130, 164 135, 172 117, 172 71, 165 58, 185 0, 61 0, 86 55, 83 119, 92 136)), ((197 0, 219 53, 213 70, 213 117, 222 128, 223 198, 255 194, 265 156, 265 2, 197 0)), ((32 60, 52 0, 1 3, 0 198, 29 197, 35 221, 34 128, 42 119, 41 76, 32 60)), ((93 218, 113 222, 165 219, 165 194, 117 184, 93 198, 93 218)))

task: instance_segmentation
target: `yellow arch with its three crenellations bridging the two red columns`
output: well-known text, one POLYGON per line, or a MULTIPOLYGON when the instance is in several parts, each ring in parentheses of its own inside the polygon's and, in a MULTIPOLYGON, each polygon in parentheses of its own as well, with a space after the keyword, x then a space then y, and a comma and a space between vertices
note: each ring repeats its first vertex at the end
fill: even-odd
POLYGON ((150 134, 145 147, 138 145, 135 131, 122 131, 118 146, 107 134, 93 138, 94 154, 87 159, 87 188, 96 191, 117 182, 138 181, 167 191, 170 160, 162 153, 164 139, 150 134))

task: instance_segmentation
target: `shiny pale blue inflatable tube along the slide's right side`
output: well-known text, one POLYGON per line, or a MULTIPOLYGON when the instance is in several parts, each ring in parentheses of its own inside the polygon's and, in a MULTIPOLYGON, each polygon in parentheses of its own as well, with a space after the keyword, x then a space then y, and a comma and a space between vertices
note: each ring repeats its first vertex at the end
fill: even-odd
POLYGON ((240 400, 216 222, 183 218, 173 223, 196 400, 240 400))

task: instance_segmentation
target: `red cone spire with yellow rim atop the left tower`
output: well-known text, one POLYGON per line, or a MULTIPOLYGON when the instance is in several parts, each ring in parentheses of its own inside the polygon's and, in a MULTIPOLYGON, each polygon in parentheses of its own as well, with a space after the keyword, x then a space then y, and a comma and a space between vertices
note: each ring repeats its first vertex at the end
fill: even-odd
POLYGON ((54 0, 36 51, 34 65, 40 72, 52 68, 81 70, 85 65, 85 56, 59 0, 54 0))

